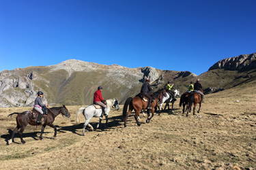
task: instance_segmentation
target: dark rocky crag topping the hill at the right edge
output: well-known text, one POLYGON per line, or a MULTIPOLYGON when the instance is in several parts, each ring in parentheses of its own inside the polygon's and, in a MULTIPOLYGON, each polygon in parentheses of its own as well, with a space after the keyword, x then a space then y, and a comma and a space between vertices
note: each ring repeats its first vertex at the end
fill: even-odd
POLYGON ((231 71, 248 71, 256 68, 256 53, 242 54, 240 56, 233 56, 231 58, 225 58, 215 63, 210 70, 213 69, 225 69, 231 71))

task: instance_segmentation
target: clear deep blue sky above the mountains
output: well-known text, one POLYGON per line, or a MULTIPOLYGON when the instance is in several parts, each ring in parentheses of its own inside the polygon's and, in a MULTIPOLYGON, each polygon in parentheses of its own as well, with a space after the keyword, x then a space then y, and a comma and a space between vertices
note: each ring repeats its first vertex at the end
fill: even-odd
POLYGON ((68 59, 208 71, 256 52, 255 0, 0 0, 0 71, 68 59))

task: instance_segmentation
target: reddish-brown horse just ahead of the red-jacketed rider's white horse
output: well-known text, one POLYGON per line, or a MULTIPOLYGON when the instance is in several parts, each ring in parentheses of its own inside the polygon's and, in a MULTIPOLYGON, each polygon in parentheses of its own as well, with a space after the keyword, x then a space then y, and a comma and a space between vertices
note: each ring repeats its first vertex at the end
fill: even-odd
POLYGON ((135 110, 134 118, 135 118, 138 126, 141 125, 141 122, 139 122, 139 120, 138 120, 138 116, 139 116, 139 113, 141 112, 142 109, 147 109, 147 120, 146 120, 146 122, 149 123, 150 120, 154 116, 155 107, 157 106, 158 101, 161 101, 164 92, 165 92, 164 89, 160 89, 157 92, 154 92, 155 99, 151 103, 151 107, 152 107, 152 109, 151 109, 152 116, 151 117, 150 117, 150 109, 147 109, 148 101, 144 101, 140 97, 134 97, 134 98, 129 97, 128 99, 126 99, 126 103, 124 103, 124 109, 123 109, 124 126, 126 127, 127 118, 128 118, 128 116, 130 116, 133 109, 135 110), (128 109, 128 106, 129 106, 129 109, 128 109), (127 112, 127 109, 128 109, 128 112, 127 112))

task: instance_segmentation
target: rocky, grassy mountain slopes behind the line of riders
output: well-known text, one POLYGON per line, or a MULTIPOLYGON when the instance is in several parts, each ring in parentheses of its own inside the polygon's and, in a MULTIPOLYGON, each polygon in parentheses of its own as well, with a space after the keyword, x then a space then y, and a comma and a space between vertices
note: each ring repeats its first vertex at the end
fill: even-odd
MULTIPOLYGON (((247 56, 255 57, 255 53, 247 56)), ((231 62, 233 59, 225 59, 231 62)), ((233 60, 236 61, 236 60, 233 60)), ((201 79, 205 92, 217 92, 255 81, 255 60, 246 61, 237 70, 227 70, 213 65, 209 71, 197 76, 190 71, 169 71, 153 67, 128 68, 119 65, 99 65, 85 61, 68 60, 58 65, 26 67, 0 72, 0 107, 33 106, 38 90, 44 92, 44 103, 50 105, 89 105, 98 86, 103 86, 105 99, 116 97, 119 101, 139 93, 145 77, 151 80, 154 91, 172 81, 174 88, 184 92, 190 81, 201 79)), ((220 61, 221 62, 221 61, 220 61)), ((231 63, 230 65, 233 65, 231 63)))

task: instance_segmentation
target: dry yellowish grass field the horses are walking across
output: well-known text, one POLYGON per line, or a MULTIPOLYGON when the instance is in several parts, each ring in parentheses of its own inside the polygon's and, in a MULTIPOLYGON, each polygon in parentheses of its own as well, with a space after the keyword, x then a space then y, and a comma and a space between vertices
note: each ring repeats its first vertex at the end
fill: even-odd
MULTIPOLYGON (((40 141, 41 127, 29 125, 27 143, 21 144, 16 135, 16 143, 9 146, 16 120, 8 114, 31 108, 0 108, 0 169, 255 169, 255 94, 255 87, 240 86, 206 95, 201 113, 188 117, 182 115, 178 99, 174 114, 156 114, 149 124, 141 115, 141 126, 132 114, 126 128, 121 105, 118 112, 110 112, 108 129, 86 131, 85 136, 85 119, 75 124, 81 106, 67 106, 71 117, 57 116, 56 139, 46 126, 40 141)), ((94 127, 97 122, 91 120, 94 127)))

